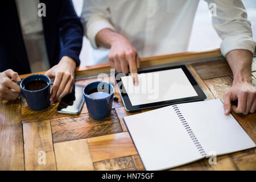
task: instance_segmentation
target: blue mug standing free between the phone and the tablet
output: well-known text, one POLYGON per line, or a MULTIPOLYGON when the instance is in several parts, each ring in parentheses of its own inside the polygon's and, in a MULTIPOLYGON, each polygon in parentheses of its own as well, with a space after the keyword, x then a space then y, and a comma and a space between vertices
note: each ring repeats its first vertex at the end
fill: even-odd
POLYGON ((90 117, 94 119, 103 119, 109 116, 114 97, 114 84, 113 82, 95 81, 85 86, 84 88, 84 99, 90 114, 90 117), (104 98, 92 98, 86 93, 89 90, 97 88, 98 90, 103 89, 110 91, 110 95, 104 98))

